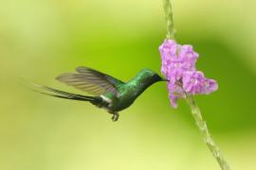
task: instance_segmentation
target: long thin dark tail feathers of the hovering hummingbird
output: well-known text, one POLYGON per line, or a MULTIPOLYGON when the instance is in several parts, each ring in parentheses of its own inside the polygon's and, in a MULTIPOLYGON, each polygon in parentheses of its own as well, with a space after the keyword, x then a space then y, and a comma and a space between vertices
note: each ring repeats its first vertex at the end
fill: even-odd
POLYGON ((49 96, 54 96, 58 98, 70 99, 70 100, 79 100, 79 101, 89 101, 94 105, 98 105, 102 102, 102 98, 100 96, 87 96, 76 93, 67 93, 64 91, 56 90, 44 85, 40 85, 37 83, 29 83, 30 88, 37 92, 43 93, 49 96))

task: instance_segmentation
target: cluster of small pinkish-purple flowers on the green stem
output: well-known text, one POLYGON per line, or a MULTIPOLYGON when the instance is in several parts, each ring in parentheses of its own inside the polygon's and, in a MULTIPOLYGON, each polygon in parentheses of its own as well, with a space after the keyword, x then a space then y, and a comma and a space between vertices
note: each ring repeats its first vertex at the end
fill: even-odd
POLYGON ((185 93, 208 94, 218 89, 215 80, 204 76, 195 68, 199 55, 192 45, 180 45, 173 40, 165 40, 159 47, 162 59, 161 72, 168 81, 171 105, 177 107, 177 99, 184 98, 185 93))

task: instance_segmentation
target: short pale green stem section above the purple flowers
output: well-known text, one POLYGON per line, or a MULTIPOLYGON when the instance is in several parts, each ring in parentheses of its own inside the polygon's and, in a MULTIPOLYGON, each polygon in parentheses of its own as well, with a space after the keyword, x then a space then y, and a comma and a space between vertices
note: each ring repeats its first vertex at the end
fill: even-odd
POLYGON ((167 23, 167 39, 175 39, 174 36, 174 19, 173 19, 173 9, 170 0, 163 0, 163 7, 165 11, 165 18, 167 23))

